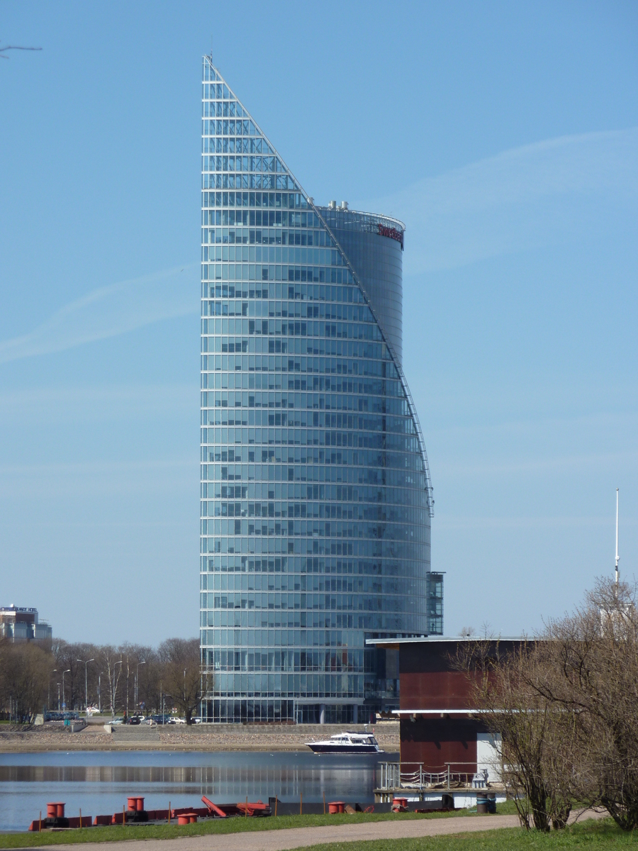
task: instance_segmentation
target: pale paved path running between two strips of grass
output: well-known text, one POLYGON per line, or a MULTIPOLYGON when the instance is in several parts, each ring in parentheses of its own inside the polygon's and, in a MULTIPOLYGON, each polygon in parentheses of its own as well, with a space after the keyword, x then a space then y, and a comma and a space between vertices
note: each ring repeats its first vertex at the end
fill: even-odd
MULTIPOLYGON (((450 833, 492 831, 517 827, 516 815, 464 816, 411 821, 367 821, 358 825, 291 827, 282 831, 208 834, 183 839, 142 839, 109 842, 108 851, 285 851, 322 842, 354 842, 366 839, 435 837, 450 833), (151 849, 151 845, 154 846, 151 849)), ((101 843, 100 843, 101 844, 101 843)), ((55 851, 77 851, 77 845, 56 845, 55 851)), ((90 848, 96 848, 91 843, 90 848)))

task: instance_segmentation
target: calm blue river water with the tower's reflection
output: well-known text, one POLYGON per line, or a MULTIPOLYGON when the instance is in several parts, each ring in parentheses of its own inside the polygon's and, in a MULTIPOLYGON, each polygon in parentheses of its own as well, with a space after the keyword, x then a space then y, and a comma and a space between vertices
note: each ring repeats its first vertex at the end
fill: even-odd
POLYGON ((122 811, 128 795, 145 808, 201 807, 277 796, 280 801, 373 802, 379 762, 396 754, 315 755, 310 751, 51 751, 0 753, 0 831, 24 831, 48 801, 66 815, 122 811))

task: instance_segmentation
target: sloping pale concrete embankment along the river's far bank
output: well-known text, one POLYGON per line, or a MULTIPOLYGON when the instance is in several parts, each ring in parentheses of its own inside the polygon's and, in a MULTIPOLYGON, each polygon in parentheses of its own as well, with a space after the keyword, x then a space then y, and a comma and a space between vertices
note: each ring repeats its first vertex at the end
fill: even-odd
MULTIPOLYGON (((166 727, 117 725, 105 731, 108 719, 93 722, 77 733, 50 723, 30 730, 0 731, 0 752, 21 751, 305 751, 305 743, 341 733, 341 724, 185 724, 166 727)), ((364 731, 362 724, 348 729, 364 731)), ((384 751, 399 750, 399 724, 383 721, 374 728, 384 751)))

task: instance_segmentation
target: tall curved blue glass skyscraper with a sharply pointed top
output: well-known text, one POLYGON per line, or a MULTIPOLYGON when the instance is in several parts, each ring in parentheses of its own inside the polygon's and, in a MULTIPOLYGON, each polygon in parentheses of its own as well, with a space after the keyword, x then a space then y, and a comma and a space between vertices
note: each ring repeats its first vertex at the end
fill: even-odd
POLYGON ((396 705, 367 638, 442 632, 402 373, 405 227, 314 203, 206 56, 201 641, 214 721, 396 705))

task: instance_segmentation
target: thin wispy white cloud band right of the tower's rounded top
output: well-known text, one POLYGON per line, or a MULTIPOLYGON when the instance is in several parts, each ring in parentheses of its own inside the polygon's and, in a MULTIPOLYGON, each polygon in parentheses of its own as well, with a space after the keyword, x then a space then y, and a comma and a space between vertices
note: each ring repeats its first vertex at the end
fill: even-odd
POLYGON ((360 208, 406 222, 406 274, 589 238, 618 215, 635 220, 638 129, 514 148, 360 208))

